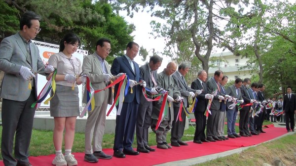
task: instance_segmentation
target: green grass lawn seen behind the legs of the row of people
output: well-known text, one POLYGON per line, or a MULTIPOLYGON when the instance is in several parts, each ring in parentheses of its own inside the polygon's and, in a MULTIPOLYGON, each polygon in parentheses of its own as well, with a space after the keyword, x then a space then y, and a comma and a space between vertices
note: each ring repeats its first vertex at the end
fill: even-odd
MULTIPOLYGON (((238 120, 237 120, 238 122, 238 120)), ((193 123, 194 126, 195 123, 193 123)), ((264 121, 263 125, 271 124, 271 122, 264 121)), ((195 129, 189 123, 189 128, 185 130, 184 137, 182 140, 193 140, 195 129)), ((224 134, 227 134, 227 126, 224 127, 224 134)), ((238 132, 238 126, 236 126, 236 131, 238 132)), ((0 133, 2 133, 2 126, 0 126, 0 133)), ((52 131, 44 130, 33 130, 32 139, 30 144, 30 155, 31 156, 41 156, 54 154, 55 149, 52 141, 52 131)), ((1 135, 0 135, 1 137, 1 135)), ((170 143, 171 133, 167 135, 167 142, 170 143)), ((103 148, 113 148, 114 134, 105 134, 103 138, 103 148)), ((149 145, 156 145, 155 134, 153 132, 149 133, 148 136, 149 145)), ((134 137, 133 147, 137 147, 136 136, 134 137)), ((64 151, 64 149, 63 149, 64 151)), ((84 152, 84 133, 75 133, 74 144, 72 152, 84 152)), ((0 160, 2 157, 0 156, 0 160)))

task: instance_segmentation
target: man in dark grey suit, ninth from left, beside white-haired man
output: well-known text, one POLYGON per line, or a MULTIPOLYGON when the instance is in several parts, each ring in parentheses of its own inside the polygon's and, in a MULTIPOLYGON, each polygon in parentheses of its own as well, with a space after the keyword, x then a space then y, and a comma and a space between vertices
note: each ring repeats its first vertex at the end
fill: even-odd
POLYGON ((220 81, 223 78, 223 72, 217 70, 214 73, 214 77, 207 82, 207 93, 213 93, 217 90, 214 95, 212 104, 211 104, 211 114, 208 116, 207 120, 207 140, 215 142, 216 140, 222 140, 218 138, 218 113, 221 109, 221 101, 224 100, 224 97, 221 95, 220 81))

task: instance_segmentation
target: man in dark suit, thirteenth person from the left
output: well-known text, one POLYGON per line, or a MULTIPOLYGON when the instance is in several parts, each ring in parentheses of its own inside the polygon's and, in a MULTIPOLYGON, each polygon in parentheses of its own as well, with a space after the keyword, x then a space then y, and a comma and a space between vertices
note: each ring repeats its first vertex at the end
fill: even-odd
MULTIPOLYGON (((248 92, 250 94, 251 99, 253 100, 257 100, 257 91, 258 91, 258 83, 252 83, 251 84, 251 88, 248 89, 248 92)), ((256 104, 254 103, 251 106, 253 109, 255 109, 256 104)), ((256 110, 255 110, 256 111, 256 110)), ((259 133, 257 133, 257 131, 255 130, 255 125, 254 125, 254 117, 252 117, 253 111, 251 111, 249 113, 249 132, 252 135, 259 135, 259 133)))

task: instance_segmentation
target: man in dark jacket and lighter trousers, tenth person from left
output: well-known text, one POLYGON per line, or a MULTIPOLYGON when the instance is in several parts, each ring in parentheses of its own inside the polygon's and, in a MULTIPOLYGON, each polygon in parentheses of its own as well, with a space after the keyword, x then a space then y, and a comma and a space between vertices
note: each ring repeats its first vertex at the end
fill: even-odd
MULTIPOLYGON (((226 96, 226 90, 224 88, 225 84, 228 81, 227 76, 223 76, 222 80, 219 82, 220 83, 220 88, 221 88, 221 94, 222 96, 229 97, 228 95, 226 96)), ((218 114, 218 138, 222 140, 228 139, 227 137, 224 136, 224 126, 225 126, 225 116, 226 116, 226 101, 222 100, 221 102, 221 109, 218 114)))

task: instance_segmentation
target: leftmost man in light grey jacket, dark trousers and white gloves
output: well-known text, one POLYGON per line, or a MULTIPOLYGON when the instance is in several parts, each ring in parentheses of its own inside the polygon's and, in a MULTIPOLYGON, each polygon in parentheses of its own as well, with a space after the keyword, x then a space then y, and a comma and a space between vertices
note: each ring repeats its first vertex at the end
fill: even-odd
POLYGON ((45 75, 54 71, 52 66, 44 69, 37 46, 32 39, 41 30, 40 17, 28 11, 20 19, 20 31, 6 37, 0 44, 0 70, 4 71, 0 97, 2 101, 1 152, 5 166, 31 166, 29 145, 32 135, 37 100, 36 72, 45 75), (28 88, 31 82, 32 89, 28 88), (15 135, 14 156, 12 156, 15 135))

